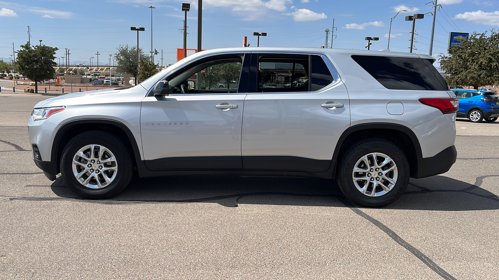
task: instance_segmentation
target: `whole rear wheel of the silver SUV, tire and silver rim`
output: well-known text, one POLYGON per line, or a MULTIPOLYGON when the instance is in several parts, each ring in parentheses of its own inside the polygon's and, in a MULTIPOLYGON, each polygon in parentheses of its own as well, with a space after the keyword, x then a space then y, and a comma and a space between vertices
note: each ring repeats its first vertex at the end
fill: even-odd
POLYGON ((341 157, 337 182, 354 203, 383 207, 397 200, 407 188, 409 162, 402 150, 391 142, 363 140, 341 157))

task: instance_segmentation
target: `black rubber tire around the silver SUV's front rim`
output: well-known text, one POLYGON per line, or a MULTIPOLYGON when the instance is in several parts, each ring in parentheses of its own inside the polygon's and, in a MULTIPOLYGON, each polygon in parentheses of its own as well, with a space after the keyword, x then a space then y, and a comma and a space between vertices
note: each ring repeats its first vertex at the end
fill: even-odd
POLYGON ((77 195, 89 199, 104 199, 120 193, 133 177, 134 165, 130 148, 114 134, 105 131, 88 131, 71 139, 61 156, 61 175, 66 185, 77 195), (114 179, 103 188, 88 188, 81 184, 73 174, 73 157, 76 152, 90 144, 108 148, 116 158, 118 169, 114 179))

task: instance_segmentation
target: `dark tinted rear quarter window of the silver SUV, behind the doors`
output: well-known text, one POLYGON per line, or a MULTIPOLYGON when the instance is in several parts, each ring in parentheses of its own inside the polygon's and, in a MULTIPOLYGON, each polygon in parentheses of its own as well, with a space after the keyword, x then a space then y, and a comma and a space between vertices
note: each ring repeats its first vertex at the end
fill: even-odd
POLYGON ((429 59, 371 55, 352 55, 352 58, 387 89, 448 90, 429 59))

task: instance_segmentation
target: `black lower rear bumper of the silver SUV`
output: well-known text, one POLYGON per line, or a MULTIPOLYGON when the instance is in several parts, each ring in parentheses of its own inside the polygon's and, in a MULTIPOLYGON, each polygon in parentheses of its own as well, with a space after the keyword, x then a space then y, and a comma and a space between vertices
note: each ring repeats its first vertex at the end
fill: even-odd
POLYGON ((452 145, 432 157, 418 158, 418 173, 415 178, 425 178, 445 173, 456 162, 458 151, 452 145))

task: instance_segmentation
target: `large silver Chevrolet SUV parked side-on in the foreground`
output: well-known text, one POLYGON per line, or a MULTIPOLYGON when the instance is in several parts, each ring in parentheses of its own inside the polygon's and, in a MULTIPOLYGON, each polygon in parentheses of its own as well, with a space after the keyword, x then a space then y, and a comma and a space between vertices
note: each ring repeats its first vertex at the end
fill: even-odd
POLYGON ((410 177, 456 161, 458 100, 434 61, 340 49, 202 51, 129 89, 38 103, 34 161, 91 199, 116 195, 136 170, 334 178, 353 202, 381 207, 410 177), (290 86, 259 86, 277 77, 290 86), (214 87, 223 79, 238 88, 214 87))

